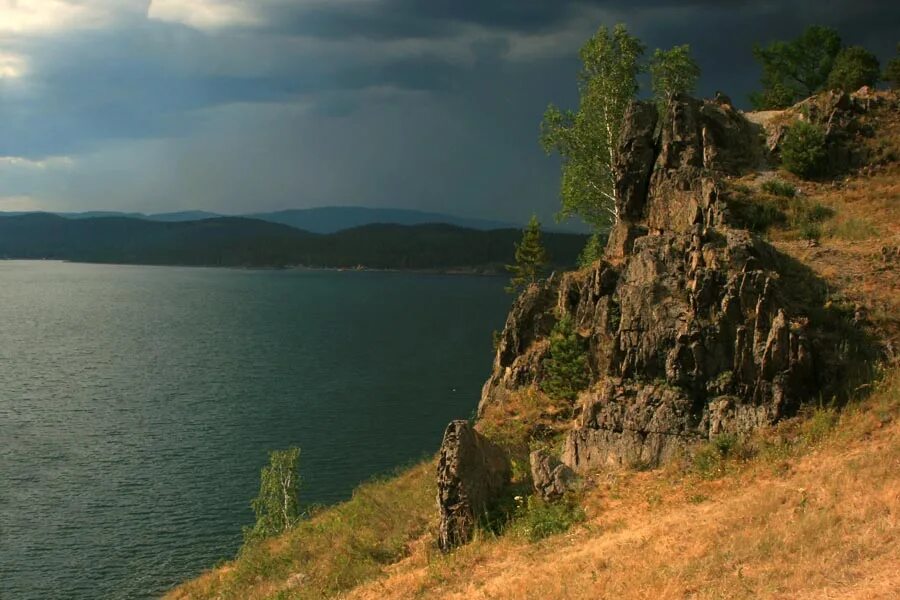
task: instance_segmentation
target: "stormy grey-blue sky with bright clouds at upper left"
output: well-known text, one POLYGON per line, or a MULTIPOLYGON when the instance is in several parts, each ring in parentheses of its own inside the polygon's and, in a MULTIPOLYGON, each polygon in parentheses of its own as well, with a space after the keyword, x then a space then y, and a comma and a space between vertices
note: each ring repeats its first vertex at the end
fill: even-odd
POLYGON ((875 0, 0 0, 0 211, 356 205, 550 221, 547 104, 625 23, 688 43, 737 104, 754 43, 836 27, 882 62, 875 0))

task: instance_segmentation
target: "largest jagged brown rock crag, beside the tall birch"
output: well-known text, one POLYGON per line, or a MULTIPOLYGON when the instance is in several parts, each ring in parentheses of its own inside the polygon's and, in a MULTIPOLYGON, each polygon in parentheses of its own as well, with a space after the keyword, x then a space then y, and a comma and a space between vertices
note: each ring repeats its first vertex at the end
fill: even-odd
POLYGON ((657 119, 641 102, 627 115, 604 259, 525 292, 482 391, 483 413, 539 378, 548 332, 571 315, 593 381, 563 454, 576 471, 658 464, 790 415, 822 387, 786 259, 729 209, 725 180, 765 160, 762 129, 730 104, 686 97, 657 119))

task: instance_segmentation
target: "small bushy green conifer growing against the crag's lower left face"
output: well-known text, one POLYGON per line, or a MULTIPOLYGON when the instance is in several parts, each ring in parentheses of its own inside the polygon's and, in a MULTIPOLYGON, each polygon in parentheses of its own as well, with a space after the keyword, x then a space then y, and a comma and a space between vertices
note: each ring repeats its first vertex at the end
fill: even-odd
POLYGON ((587 342, 564 315, 550 333, 550 351, 541 366, 541 390, 559 400, 574 400, 590 383, 587 342))

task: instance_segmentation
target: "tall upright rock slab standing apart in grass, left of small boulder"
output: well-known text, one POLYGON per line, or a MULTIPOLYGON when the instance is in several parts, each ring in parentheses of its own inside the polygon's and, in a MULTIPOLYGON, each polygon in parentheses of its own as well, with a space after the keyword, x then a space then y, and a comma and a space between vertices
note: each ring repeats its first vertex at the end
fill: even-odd
POLYGON ((448 551, 468 542, 479 518, 509 483, 503 450, 468 421, 452 421, 438 460, 438 545, 448 551))

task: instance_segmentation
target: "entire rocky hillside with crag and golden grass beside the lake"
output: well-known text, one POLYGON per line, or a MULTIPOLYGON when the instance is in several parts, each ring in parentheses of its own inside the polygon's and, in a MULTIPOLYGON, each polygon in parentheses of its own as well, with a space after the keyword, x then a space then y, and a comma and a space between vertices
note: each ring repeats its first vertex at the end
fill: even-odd
MULTIPOLYGON (((727 107, 684 100, 676 123, 703 127, 664 125, 652 154, 655 128, 631 128, 620 182, 640 206, 602 261, 526 291, 499 340, 477 428, 509 453, 512 487, 472 541, 438 549, 442 448, 168 597, 895 597, 900 104, 852 100, 831 149, 871 150, 818 181, 736 148, 750 130, 727 107), (574 401, 546 393, 539 366, 560 313, 591 342, 595 379, 574 401), (562 500, 532 491, 532 450, 578 471, 562 500)), ((814 111, 767 115, 766 133, 814 111)))

